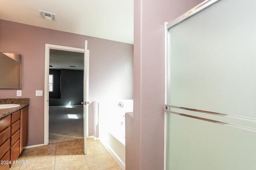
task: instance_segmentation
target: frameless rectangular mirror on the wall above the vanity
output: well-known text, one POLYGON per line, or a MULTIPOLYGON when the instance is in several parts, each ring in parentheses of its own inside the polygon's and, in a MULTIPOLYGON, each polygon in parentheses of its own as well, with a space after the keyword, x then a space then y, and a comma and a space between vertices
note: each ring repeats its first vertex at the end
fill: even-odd
POLYGON ((21 89, 22 55, 0 52, 0 89, 21 89))

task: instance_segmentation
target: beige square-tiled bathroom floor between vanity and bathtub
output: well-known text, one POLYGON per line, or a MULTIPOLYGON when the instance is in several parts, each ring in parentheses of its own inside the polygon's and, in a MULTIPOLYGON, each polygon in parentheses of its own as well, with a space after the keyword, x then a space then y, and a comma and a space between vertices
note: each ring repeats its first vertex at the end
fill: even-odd
POLYGON ((11 170, 121 170, 99 140, 83 139, 24 149, 11 170))

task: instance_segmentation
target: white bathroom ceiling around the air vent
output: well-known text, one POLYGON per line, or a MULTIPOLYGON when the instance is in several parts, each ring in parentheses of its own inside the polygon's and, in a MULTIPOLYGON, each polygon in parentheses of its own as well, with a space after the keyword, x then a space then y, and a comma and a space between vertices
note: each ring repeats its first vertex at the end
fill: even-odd
POLYGON ((133 0, 0 0, 0 19, 133 44, 133 0))

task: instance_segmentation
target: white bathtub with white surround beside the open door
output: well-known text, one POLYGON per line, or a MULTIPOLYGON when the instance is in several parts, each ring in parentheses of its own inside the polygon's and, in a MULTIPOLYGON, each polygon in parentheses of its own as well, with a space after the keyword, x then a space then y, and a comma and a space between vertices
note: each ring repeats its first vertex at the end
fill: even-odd
POLYGON ((99 139, 125 170, 125 113, 133 111, 133 100, 99 102, 99 139))

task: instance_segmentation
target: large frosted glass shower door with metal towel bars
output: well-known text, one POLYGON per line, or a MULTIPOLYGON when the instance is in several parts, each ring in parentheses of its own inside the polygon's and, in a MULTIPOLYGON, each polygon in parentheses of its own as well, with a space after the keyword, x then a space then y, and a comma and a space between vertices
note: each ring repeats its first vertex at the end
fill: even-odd
POLYGON ((256 2, 212 2, 168 26, 168 170, 256 170, 256 2))

